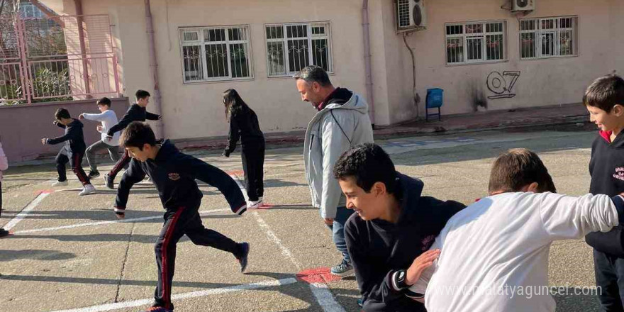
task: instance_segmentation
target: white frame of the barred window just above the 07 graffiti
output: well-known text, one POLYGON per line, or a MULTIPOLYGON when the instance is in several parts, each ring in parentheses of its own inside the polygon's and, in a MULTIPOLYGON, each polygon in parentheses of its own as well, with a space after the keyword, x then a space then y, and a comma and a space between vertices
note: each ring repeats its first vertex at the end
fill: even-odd
POLYGON ((508 62, 509 60, 509 52, 508 52, 508 23, 506 20, 491 20, 491 21, 465 21, 465 22, 452 22, 452 23, 445 23, 444 24, 444 47, 445 47, 445 52, 444 52, 444 57, 445 57, 445 64, 447 66, 457 66, 457 65, 474 65, 474 64, 488 64, 488 63, 497 63, 497 62, 508 62), (496 23, 501 23, 502 25, 502 30, 501 31, 487 31, 487 26, 488 24, 496 24, 496 23), (481 32, 479 33, 467 33, 466 32, 466 26, 469 25, 477 25, 480 24, 481 25, 481 32), (462 26, 462 33, 459 34, 447 34, 447 27, 449 26, 462 26), (487 38, 490 35, 503 35, 502 38, 502 55, 500 59, 497 60, 487 60, 487 38), (457 38, 461 38, 461 42, 462 42, 462 62, 448 62, 449 60, 449 55, 448 55, 448 39, 457 39, 457 38), (478 60, 468 60, 468 40, 475 40, 475 39, 480 39, 481 40, 481 58, 478 60))

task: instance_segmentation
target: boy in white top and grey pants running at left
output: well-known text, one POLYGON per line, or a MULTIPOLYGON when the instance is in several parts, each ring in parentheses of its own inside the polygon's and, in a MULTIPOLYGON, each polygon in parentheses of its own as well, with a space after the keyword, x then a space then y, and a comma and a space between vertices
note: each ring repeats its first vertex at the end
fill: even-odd
POLYGON ((95 155, 100 150, 108 150, 108 155, 111 155, 113 162, 119 160, 119 133, 115 133, 112 140, 106 138, 108 129, 118 123, 117 115, 111 109, 111 100, 103 97, 97 101, 97 106, 101 113, 81 113, 78 116, 81 120, 87 119, 88 121, 100 121, 102 123, 97 126, 98 132, 102 134, 101 140, 91 144, 84 152, 87 155, 87 162, 89 162, 89 167, 91 168, 89 179, 99 177, 100 175, 95 161, 95 155))

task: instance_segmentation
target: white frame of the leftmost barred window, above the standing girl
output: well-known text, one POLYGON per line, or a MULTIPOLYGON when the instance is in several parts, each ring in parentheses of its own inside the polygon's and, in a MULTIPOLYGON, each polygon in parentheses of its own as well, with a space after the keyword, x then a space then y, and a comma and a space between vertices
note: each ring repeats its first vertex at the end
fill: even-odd
POLYGON ((227 26, 191 26, 191 27, 179 27, 179 46, 180 46, 180 61, 182 65, 182 83, 183 84, 198 84, 206 82, 232 82, 232 81, 245 81, 254 79, 254 67, 253 67, 253 53, 252 53, 252 40, 251 40, 251 28, 248 24, 244 25, 227 25, 227 26), (242 28, 247 40, 230 40, 230 29, 242 28), (208 41, 204 38, 204 31, 206 30, 223 30, 225 33, 225 40, 220 41, 208 41), (184 40, 185 33, 196 33, 196 40, 184 40), (206 45, 218 45, 225 44, 225 50, 228 55, 227 67, 228 76, 222 77, 210 77, 208 74, 208 62, 206 60, 206 45), (232 58, 230 55, 230 45, 246 44, 247 45, 247 77, 232 77, 232 58), (201 76, 203 79, 187 80, 186 69, 184 67, 184 47, 199 47, 201 57, 201 76))

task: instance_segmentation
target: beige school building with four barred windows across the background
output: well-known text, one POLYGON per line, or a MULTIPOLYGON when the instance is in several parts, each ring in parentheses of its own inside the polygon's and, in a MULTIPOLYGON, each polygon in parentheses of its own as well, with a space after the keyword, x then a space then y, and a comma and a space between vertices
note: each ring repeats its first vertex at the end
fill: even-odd
POLYGON ((173 139, 227 135, 230 88, 265 133, 304 130, 315 111, 291 76, 306 65, 364 95, 376 126, 423 118, 430 88, 442 115, 573 104, 624 70, 621 0, 40 2, 108 16, 119 93, 150 91, 173 139))

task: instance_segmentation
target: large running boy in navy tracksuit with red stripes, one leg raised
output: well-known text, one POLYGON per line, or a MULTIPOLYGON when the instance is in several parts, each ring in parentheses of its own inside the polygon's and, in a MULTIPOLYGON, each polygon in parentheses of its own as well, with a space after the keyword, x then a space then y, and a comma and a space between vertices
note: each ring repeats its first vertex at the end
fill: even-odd
MULTIPOLYGON (((245 271, 249 244, 236 243, 221 233, 204 228, 198 212, 203 195, 195 179, 219 189, 232 211, 240 215, 246 211, 247 206, 238 184, 221 169, 183 154, 168 140, 162 145, 157 145, 155 135, 146 123, 137 121, 130 123, 123 131, 121 141, 131 157, 136 160, 130 162, 124 176, 136 183, 142 181, 147 173, 156 186, 162 206, 165 208, 165 223, 155 245, 158 267, 155 302, 147 311, 173 310, 171 282, 175 267, 176 244, 184 235, 195 245, 231 252, 240 262, 240 272, 245 271)), ((127 201, 128 191, 129 189, 120 187, 116 200, 127 201)), ((115 212, 118 218, 123 218, 126 211, 116 208, 115 212)))

